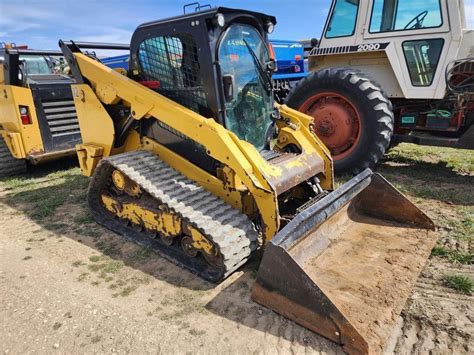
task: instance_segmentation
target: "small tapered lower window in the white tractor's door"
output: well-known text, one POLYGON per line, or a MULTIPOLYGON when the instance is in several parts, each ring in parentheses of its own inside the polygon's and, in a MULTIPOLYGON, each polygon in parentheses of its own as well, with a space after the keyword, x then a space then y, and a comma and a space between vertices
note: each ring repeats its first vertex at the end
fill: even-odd
POLYGON ((403 42, 403 52, 413 86, 430 86, 436 73, 443 39, 403 42))

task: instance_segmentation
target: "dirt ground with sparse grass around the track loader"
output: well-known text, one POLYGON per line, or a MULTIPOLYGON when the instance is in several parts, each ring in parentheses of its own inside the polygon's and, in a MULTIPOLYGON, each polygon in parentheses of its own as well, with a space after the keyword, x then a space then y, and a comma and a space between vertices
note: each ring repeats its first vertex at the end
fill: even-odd
MULTIPOLYGON (((474 153, 401 145, 379 171, 438 226, 439 242, 386 353, 473 353, 474 153)), ((332 342, 250 300, 258 260, 220 285, 96 225, 68 162, 0 181, 0 351, 321 353, 332 342)))

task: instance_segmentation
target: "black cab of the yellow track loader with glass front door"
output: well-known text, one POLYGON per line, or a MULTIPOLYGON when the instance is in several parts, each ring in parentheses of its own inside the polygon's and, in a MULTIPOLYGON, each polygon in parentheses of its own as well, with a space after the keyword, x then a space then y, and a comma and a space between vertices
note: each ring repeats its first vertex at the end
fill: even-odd
MULTIPOLYGON (((267 33, 275 24, 272 16, 223 7, 145 23, 132 37, 130 74, 263 149, 273 125, 267 33)), ((169 133, 159 136, 186 155, 189 147, 169 133)))

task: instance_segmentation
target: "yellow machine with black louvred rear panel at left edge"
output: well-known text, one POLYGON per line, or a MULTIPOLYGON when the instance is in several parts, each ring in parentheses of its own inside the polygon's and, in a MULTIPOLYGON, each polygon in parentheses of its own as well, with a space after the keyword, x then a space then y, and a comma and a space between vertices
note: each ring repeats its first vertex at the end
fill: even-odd
POLYGON ((0 48, 0 177, 75 154, 81 142, 73 80, 56 72, 58 51, 0 48))

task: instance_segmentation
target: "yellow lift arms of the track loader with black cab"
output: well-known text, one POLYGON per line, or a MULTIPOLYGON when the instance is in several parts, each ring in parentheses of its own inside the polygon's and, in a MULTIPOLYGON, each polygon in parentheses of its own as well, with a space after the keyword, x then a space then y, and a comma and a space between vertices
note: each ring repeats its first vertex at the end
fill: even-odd
MULTIPOLYGON (((203 145, 207 154, 228 166, 233 173, 239 176, 250 194, 254 196, 255 202, 261 211, 262 224, 265 226, 265 238, 270 240, 278 232, 277 195, 275 187, 270 185, 269 180, 272 178, 277 180, 281 176, 281 167, 269 165, 252 145, 239 140, 232 132, 226 130, 213 119, 204 118, 183 106, 177 105, 166 97, 102 65, 84 53, 77 52, 79 46, 84 48, 89 45, 60 42, 60 47, 70 63, 71 70, 73 73, 77 70, 76 73, 78 74, 76 75, 83 78, 82 83, 73 85, 76 108, 83 122, 80 121, 84 143, 78 150, 79 152, 87 151, 90 160, 89 163, 83 164, 83 170, 88 170, 86 166, 96 166, 100 158, 109 156, 113 150, 114 141, 112 129, 103 130, 99 128, 112 127, 112 119, 103 109, 100 110, 102 115, 88 119, 87 117, 90 116, 86 113, 86 105, 90 101, 95 101, 95 104, 99 107, 102 104, 113 105, 123 100, 130 103, 131 113, 135 120, 159 117, 161 122, 203 145), (86 81, 90 83, 90 86, 85 83, 86 81), (180 119, 177 120, 176 117, 180 117, 180 119), (87 123, 85 120, 87 120, 87 123), (104 122, 101 122, 102 120, 104 122), (87 128, 83 129, 86 125, 87 128), (93 129, 92 126, 95 126, 96 129, 93 129), (101 132, 100 137, 96 136, 97 132, 101 132), (97 154, 98 148, 102 148, 103 151, 100 155, 97 154)), ((94 48, 99 48, 99 45, 95 45, 94 48)), ((116 48, 110 45, 106 49, 116 48)), ((332 161, 328 150, 311 133, 308 117, 286 106, 282 107, 280 112, 282 115, 282 120, 280 120, 281 137, 285 137, 284 140, 288 142, 300 143, 303 152, 312 152, 310 156, 301 154, 299 159, 292 162, 292 164, 304 165, 313 159, 321 161, 321 157, 323 157, 322 164, 324 165, 325 175, 321 176, 321 187, 325 190, 332 190, 332 161), (294 129, 295 127, 296 129, 294 129)), ((159 151, 165 148, 160 147, 158 143, 153 144, 152 147, 150 143, 148 149, 159 151)), ((166 162, 173 166, 175 165, 173 159, 166 162)), ((80 162, 83 161, 84 159, 81 159, 80 153, 80 162)), ((283 167, 283 169, 286 169, 286 167, 283 167)), ((92 170, 87 171, 87 175, 92 175, 92 173, 92 170)), ((229 186, 223 194, 230 193, 235 188, 235 186, 229 186)))

